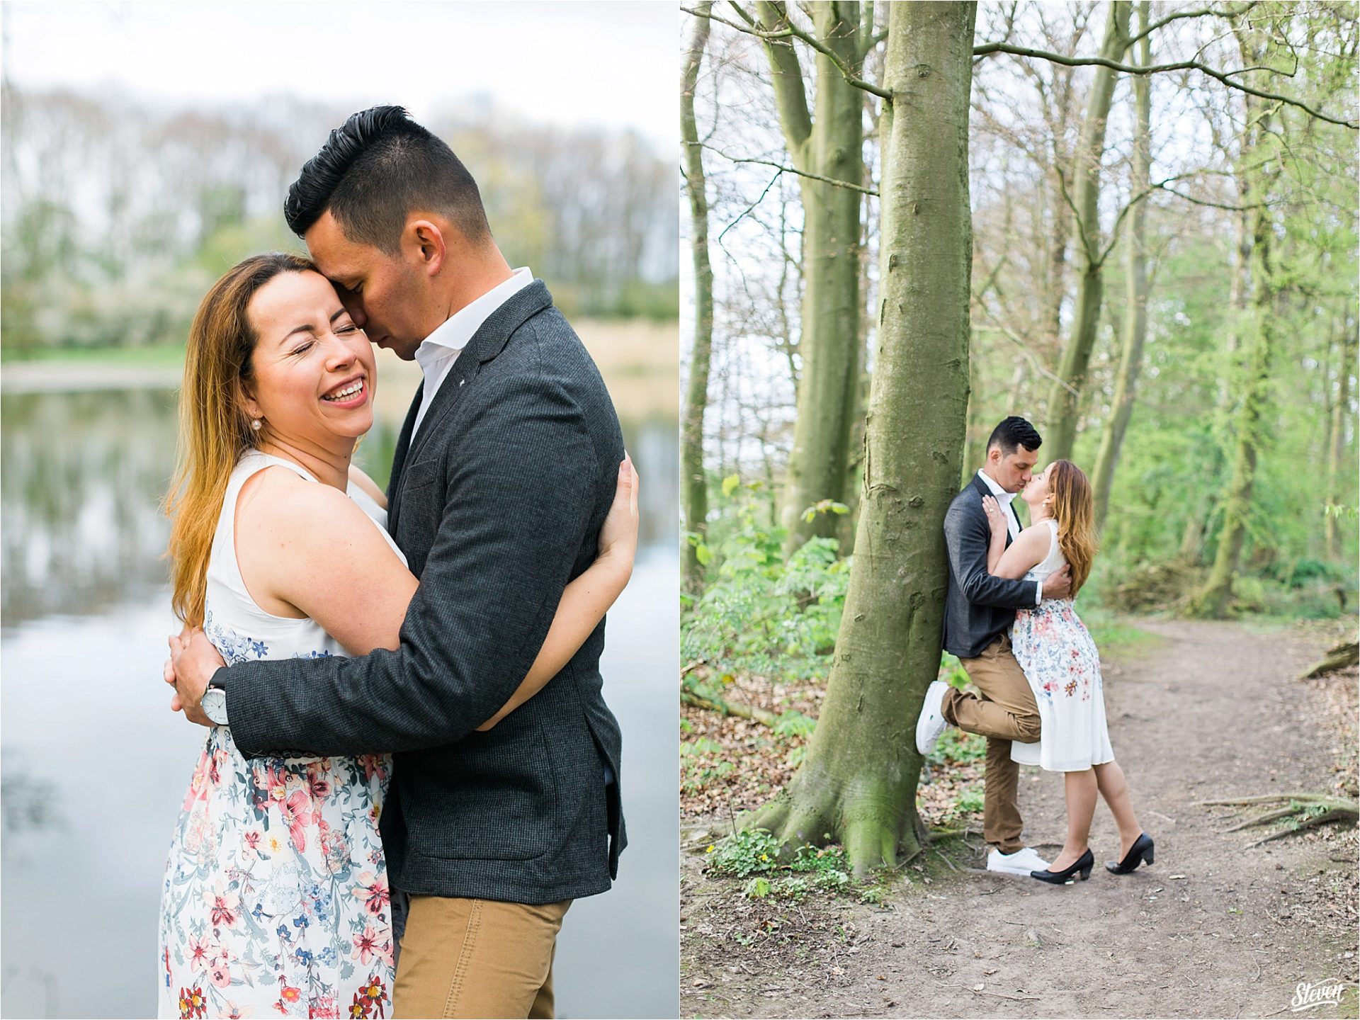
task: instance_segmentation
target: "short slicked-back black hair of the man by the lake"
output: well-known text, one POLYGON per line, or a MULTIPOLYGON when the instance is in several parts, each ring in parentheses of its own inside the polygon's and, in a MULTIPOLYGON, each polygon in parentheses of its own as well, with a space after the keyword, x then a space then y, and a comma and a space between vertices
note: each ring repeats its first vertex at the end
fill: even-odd
POLYGON ((283 204, 288 228, 302 237, 326 209, 350 241, 389 254, 418 209, 447 216, 469 241, 491 234, 472 174, 403 106, 352 114, 302 167, 283 204))

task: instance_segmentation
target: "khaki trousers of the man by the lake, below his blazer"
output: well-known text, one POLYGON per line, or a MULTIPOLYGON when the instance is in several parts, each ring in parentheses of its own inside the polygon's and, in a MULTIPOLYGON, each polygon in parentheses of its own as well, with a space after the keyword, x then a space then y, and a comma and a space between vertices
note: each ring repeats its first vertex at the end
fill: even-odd
POLYGON ((552 956, 571 900, 412 896, 393 1017, 551 1017, 552 956))

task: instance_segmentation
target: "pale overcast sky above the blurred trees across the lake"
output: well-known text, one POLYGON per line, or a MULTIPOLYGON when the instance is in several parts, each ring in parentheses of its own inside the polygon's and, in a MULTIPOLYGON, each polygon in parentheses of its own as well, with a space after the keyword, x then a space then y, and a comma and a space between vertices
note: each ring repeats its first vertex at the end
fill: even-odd
POLYGON ((169 102, 283 92, 356 110, 397 102, 416 120, 490 98, 532 121, 679 144, 680 11, 666 0, 5 0, 3 18, 19 87, 169 102))

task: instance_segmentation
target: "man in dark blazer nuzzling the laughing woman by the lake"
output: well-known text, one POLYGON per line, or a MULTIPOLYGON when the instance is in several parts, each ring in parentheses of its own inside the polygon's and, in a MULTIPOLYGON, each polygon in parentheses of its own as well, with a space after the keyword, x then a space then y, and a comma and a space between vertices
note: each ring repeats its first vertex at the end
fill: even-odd
POLYGON ((609 888, 626 845, 604 624, 533 699, 476 728, 596 556, 619 422, 544 284, 500 254, 472 177, 404 109, 333 131, 286 215, 355 324, 424 373, 388 488, 420 586, 396 651, 219 669, 196 634, 174 656, 180 700, 199 722, 224 710, 248 756, 394 752, 381 830, 411 898, 397 1015, 552 1016, 562 917, 609 888))

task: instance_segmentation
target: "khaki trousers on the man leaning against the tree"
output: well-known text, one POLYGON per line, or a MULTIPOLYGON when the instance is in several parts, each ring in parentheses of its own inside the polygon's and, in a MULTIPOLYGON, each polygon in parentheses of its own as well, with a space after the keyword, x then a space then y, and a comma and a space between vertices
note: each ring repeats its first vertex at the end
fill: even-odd
POLYGON ((1010 760, 1010 741, 1039 738, 1039 709, 1024 670, 1010 651, 1010 635, 1001 634, 976 658, 960 660, 979 694, 945 691, 941 714, 964 733, 987 738, 987 778, 982 804, 982 838, 1004 854, 1024 843, 1024 821, 1016 805, 1020 766, 1010 760))

